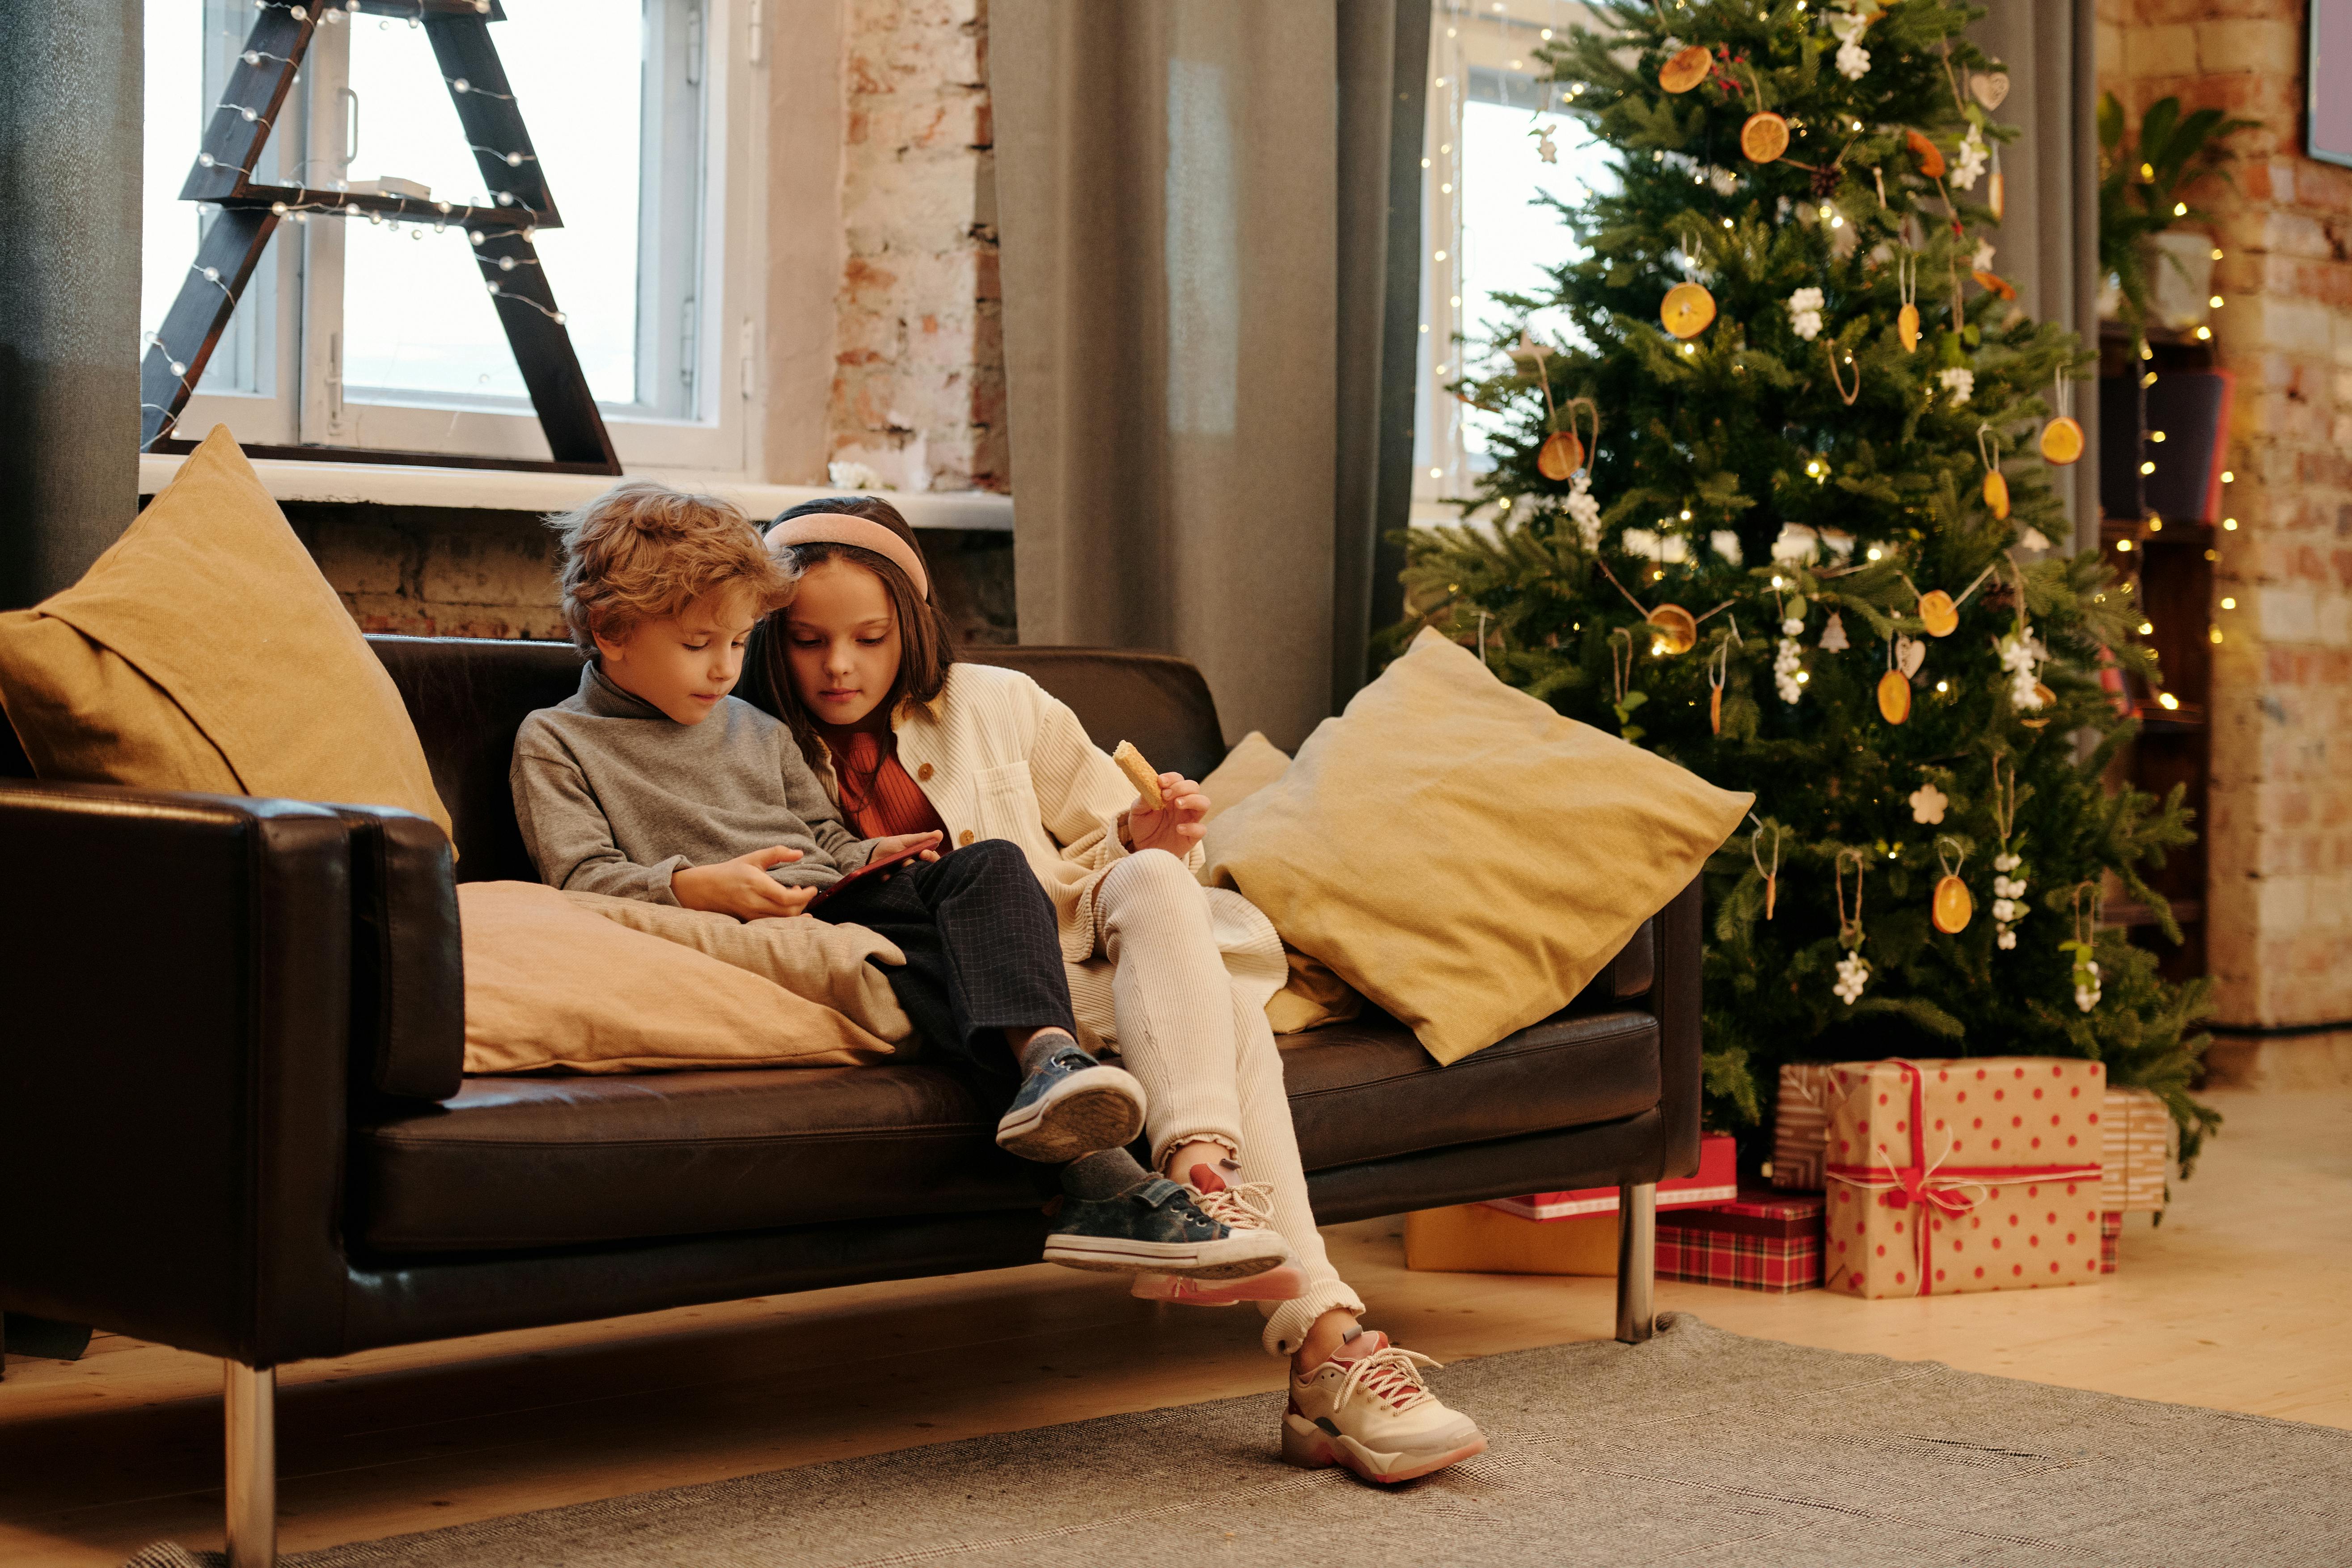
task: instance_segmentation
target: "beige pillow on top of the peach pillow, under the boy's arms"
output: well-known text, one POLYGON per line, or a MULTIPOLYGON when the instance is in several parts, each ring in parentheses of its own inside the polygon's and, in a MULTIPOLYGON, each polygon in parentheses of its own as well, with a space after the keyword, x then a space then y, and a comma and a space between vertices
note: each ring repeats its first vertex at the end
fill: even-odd
POLYGON ((898 966, 906 964, 906 952, 898 950, 898 943, 875 936, 866 926, 835 926, 807 914, 736 919, 710 910, 680 910, 642 898, 607 898, 604 893, 564 893, 564 898, 630 931, 694 947, 720 964, 781 985, 795 997, 830 1006, 868 1034, 898 1046, 901 1056, 915 1037, 915 1020, 898 1006, 889 976, 868 964, 868 959, 882 959, 898 966))

